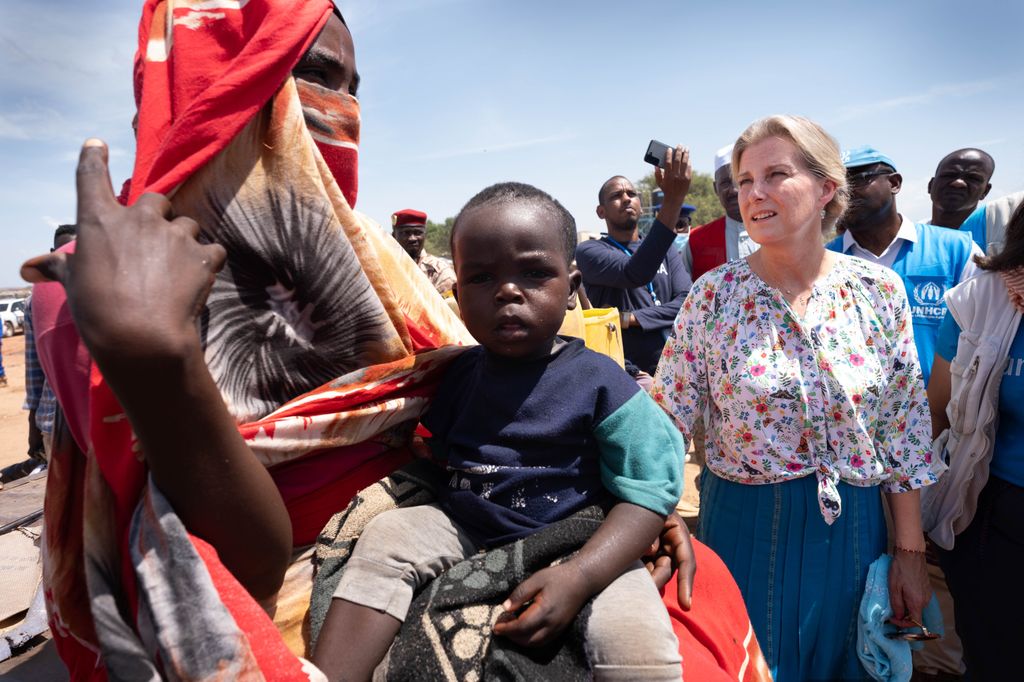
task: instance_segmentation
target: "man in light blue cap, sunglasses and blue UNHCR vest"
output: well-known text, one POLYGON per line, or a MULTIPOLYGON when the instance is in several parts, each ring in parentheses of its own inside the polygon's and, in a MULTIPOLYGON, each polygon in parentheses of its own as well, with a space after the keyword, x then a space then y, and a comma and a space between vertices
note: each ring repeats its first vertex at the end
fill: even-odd
POLYGON ((945 293, 977 273, 973 258, 983 254, 967 232, 903 220, 896 211, 903 177, 886 155, 859 146, 844 152, 843 163, 850 208, 840 221, 845 231, 826 247, 889 267, 903 279, 927 386, 946 313, 945 293))

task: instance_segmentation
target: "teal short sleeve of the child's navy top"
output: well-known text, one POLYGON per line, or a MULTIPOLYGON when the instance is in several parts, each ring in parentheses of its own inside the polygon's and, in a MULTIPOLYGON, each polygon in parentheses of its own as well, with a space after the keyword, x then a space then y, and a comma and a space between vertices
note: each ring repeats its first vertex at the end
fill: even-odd
POLYGON ((601 482, 623 502, 668 515, 683 494, 683 436, 646 391, 608 415, 594 430, 601 482))

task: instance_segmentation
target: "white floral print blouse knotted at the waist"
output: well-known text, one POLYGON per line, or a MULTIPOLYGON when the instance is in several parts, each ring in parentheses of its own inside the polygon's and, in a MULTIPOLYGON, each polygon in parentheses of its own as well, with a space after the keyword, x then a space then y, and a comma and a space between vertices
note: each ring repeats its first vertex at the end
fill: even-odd
POLYGON ((840 480, 899 493, 941 473, 903 285, 837 256, 803 318, 744 259, 699 279, 651 389, 684 434, 703 416, 719 476, 757 484, 815 474, 829 524, 842 511, 840 480))

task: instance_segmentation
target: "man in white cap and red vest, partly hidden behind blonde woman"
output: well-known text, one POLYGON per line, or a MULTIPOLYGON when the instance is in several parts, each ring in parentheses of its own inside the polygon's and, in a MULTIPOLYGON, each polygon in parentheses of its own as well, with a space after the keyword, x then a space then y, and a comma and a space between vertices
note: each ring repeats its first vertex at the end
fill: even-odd
POLYGON ((682 251, 683 263, 694 282, 708 270, 758 250, 739 215, 739 193, 732 182, 732 144, 715 155, 715 194, 725 215, 691 229, 682 251))

